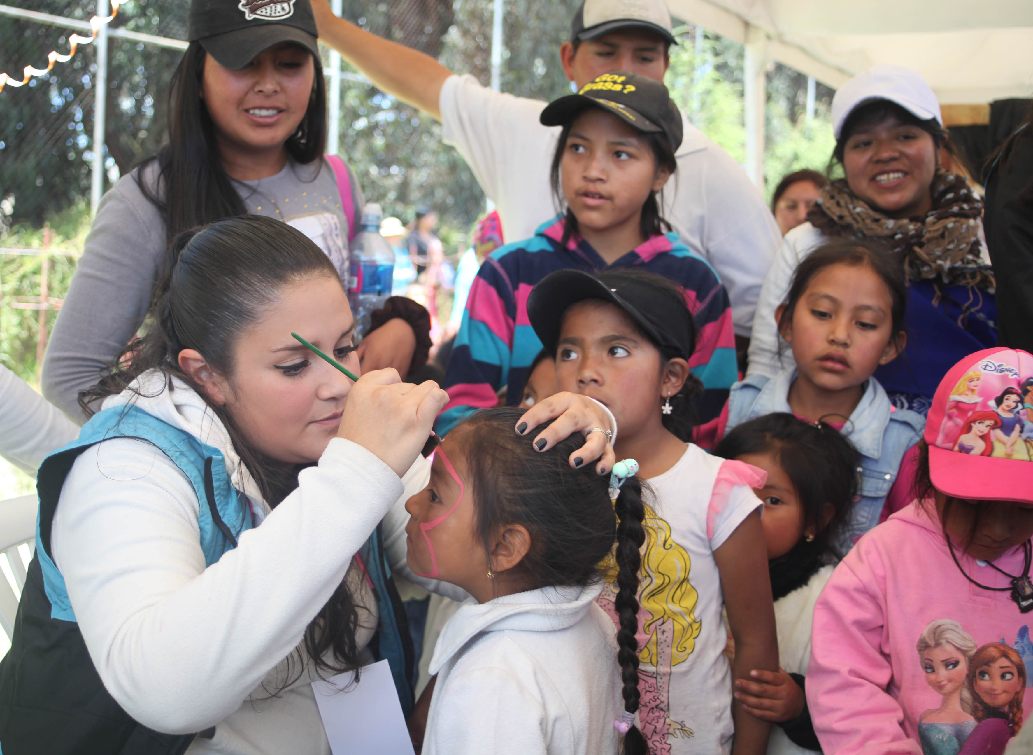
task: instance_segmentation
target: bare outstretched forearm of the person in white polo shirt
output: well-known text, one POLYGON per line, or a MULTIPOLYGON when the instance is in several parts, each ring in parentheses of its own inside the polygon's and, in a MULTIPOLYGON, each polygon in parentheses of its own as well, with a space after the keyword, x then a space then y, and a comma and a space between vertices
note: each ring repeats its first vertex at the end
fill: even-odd
POLYGON ((441 120, 438 99, 451 71, 426 53, 378 37, 334 16, 327 0, 312 0, 319 38, 363 71, 373 86, 441 120))

